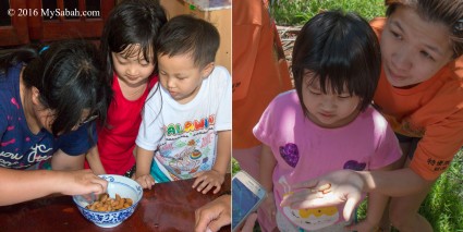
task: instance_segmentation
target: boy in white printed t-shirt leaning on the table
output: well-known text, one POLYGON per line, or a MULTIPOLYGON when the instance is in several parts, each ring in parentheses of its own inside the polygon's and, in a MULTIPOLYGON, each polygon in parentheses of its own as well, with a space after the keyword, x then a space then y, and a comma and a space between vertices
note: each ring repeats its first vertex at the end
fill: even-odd
POLYGON ((219 42, 214 25, 191 15, 161 29, 155 45, 159 83, 136 138, 135 176, 144 188, 196 178, 198 192, 220 191, 231 156, 231 77, 215 66, 219 42))

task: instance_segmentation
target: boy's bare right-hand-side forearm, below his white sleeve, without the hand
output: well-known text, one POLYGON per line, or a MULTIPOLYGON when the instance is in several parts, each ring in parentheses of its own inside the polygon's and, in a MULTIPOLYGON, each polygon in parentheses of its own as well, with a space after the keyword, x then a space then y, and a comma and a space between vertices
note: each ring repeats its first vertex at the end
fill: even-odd
POLYGON ((224 175, 230 169, 231 158, 231 131, 220 131, 217 135, 217 159, 212 170, 224 175))

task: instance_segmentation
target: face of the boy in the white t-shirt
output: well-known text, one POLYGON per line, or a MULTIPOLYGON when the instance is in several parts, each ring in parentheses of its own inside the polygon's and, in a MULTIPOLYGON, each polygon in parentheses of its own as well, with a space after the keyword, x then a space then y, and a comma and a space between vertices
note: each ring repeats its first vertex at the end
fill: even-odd
POLYGON ((204 78, 214 69, 214 63, 200 69, 190 54, 158 56, 159 82, 179 103, 187 103, 199 91, 204 78))

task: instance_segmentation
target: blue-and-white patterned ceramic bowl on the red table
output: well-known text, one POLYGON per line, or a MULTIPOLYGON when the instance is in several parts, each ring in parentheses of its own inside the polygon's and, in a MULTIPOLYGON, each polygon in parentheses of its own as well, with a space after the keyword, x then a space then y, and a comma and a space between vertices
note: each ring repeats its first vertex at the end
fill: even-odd
POLYGON ((135 211, 143 196, 143 187, 136 181, 122 175, 103 174, 99 176, 108 181, 108 194, 111 198, 115 198, 115 194, 119 194, 123 198, 131 198, 133 205, 118 211, 100 212, 86 209, 88 203, 82 196, 73 196, 73 200, 86 219, 101 228, 113 228, 135 211))

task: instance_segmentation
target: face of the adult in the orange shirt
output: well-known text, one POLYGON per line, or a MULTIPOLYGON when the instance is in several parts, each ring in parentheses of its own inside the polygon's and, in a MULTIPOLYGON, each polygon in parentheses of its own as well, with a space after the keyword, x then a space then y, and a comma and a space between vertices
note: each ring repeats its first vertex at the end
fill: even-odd
POLYGON ((415 10, 399 7, 381 36, 386 76, 395 87, 410 87, 432 77, 452 59, 444 24, 424 21, 415 10))

